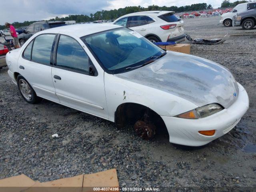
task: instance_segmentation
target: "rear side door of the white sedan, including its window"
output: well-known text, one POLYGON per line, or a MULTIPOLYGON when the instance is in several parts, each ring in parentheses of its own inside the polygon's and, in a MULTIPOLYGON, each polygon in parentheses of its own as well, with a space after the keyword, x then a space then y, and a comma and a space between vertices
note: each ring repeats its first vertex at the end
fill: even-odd
POLYGON ((55 94, 50 63, 55 34, 42 34, 34 38, 18 60, 19 73, 30 83, 37 96, 60 102, 55 94))

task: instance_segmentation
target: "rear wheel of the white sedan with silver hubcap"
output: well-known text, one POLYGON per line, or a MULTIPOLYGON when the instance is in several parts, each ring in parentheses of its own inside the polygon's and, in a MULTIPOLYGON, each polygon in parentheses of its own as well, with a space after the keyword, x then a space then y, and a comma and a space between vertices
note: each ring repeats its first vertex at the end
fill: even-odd
POLYGON ((17 76, 17 84, 20 94, 22 95, 24 100, 26 100, 26 102, 30 104, 35 104, 42 100, 40 97, 36 95, 36 92, 34 91, 32 86, 22 75, 17 76))

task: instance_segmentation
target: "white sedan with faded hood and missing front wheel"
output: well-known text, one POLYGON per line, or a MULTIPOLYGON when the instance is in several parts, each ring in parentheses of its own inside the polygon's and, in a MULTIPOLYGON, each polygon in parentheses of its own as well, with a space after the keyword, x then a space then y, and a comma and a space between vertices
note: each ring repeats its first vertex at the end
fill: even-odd
POLYGON ((249 105, 225 67, 162 50, 118 25, 38 32, 6 63, 28 103, 45 98, 118 127, 133 124, 145 139, 167 128, 170 142, 202 146, 234 128, 249 105))

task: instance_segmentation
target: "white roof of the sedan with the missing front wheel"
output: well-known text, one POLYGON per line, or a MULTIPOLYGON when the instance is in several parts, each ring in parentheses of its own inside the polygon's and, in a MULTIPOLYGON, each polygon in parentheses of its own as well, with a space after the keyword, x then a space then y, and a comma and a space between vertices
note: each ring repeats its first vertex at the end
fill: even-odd
POLYGON ((51 29, 46 29, 41 32, 38 32, 38 34, 44 34, 44 33, 62 33, 62 34, 68 34, 70 36, 77 36, 82 37, 110 29, 115 28, 122 28, 122 26, 114 25, 114 24, 83 24, 83 25, 66 25, 61 27, 55 27, 51 29))

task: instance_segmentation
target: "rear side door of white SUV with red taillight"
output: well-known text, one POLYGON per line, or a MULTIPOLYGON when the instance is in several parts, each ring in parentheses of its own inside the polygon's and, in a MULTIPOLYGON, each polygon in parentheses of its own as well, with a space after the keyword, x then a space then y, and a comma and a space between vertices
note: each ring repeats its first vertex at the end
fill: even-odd
POLYGON ((130 29, 138 32, 142 36, 148 34, 148 21, 145 16, 130 16, 128 22, 130 29))

